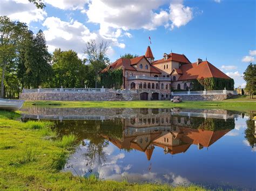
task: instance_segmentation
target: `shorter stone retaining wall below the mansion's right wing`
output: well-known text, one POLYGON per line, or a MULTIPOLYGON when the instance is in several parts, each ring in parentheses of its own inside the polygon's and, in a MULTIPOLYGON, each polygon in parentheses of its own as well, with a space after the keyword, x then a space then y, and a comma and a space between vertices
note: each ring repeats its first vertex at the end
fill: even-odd
MULTIPOLYGON (((219 94, 219 95, 179 95, 182 100, 185 101, 222 101, 227 100, 229 98, 235 97, 237 95, 230 94, 219 94)), ((172 96, 173 98, 174 96, 172 96)))

